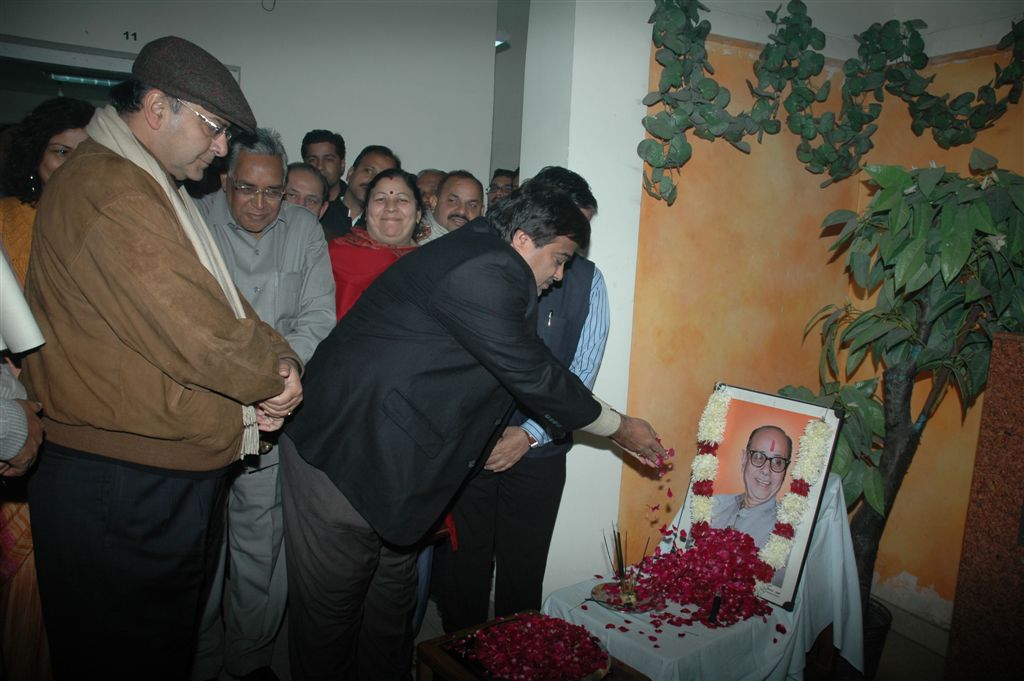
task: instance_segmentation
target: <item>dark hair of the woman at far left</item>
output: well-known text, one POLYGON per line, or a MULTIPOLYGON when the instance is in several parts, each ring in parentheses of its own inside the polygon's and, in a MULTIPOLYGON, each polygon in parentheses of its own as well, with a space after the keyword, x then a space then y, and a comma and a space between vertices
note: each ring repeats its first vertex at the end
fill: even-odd
POLYGON ((36 177, 50 137, 65 130, 84 128, 95 107, 71 97, 55 97, 39 104, 10 133, 3 166, 4 194, 26 204, 39 201, 42 182, 36 177))

